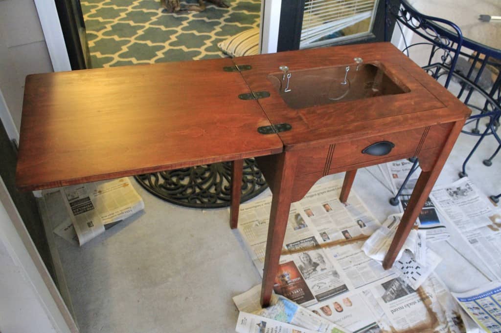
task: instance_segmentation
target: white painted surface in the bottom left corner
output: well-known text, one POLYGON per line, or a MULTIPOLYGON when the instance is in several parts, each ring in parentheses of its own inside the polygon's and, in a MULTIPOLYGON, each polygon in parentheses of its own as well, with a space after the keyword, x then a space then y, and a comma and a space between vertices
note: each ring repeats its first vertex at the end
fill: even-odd
MULTIPOLYGON (((40 262, 35 245, 0 178, 0 331, 70 332, 58 307, 61 304, 58 305, 48 288, 49 285, 54 292, 54 284, 40 274, 40 262)), ((46 270, 44 275, 49 276, 46 270)))

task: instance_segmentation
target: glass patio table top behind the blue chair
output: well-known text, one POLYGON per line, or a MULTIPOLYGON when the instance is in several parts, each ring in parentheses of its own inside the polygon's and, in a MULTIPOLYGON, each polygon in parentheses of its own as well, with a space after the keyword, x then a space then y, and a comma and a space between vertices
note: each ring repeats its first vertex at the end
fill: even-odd
POLYGON ((416 1, 413 6, 425 15, 447 19, 461 29, 463 36, 499 50, 501 55, 501 21, 483 22, 480 14, 501 16, 499 0, 416 1))

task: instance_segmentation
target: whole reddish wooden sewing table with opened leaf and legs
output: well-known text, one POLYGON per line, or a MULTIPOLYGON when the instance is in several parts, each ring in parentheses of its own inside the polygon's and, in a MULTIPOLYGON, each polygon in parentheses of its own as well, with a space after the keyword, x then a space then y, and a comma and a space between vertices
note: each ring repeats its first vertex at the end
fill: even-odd
POLYGON ((291 202, 322 176, 347 171, 345 202, 358 168, 418 157, 422 172, 384 260, 389 268, 469 114, 390 43, 35 74, 26 80, 16 179, 36 190, 233 161, 234 228, 242 159, 256 157, 273 192, 267 305, 291 202), (366 66, 360 72, 355 57, 366 66), (289 92, 280 65, 290 67, 289 92), (348 85, 333 66, 350 66, 348 85), (364 76, 371 73, 379 90, 364 76), (326 102, 325 89, 337 98, 347 87, 346 100, 326 102))

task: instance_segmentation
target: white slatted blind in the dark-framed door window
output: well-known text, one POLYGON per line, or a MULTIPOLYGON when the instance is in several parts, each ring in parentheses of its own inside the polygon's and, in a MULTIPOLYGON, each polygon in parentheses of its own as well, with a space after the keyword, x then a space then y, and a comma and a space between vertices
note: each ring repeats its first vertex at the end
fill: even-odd
POLYGON ((300 48, 329 43, 330 35, 372 17, 376 3, 377 0, 307 0, 300 48))

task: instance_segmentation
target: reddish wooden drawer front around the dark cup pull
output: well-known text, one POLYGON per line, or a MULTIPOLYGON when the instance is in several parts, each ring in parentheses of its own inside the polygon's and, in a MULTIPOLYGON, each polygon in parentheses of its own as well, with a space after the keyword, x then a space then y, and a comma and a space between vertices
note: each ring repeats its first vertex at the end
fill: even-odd
MULTIPOLYGON (((338 168, 340 166, 349 166, 357 163, 364 163, 369 161, 376 161, 377 159, 388 158, 401 154, 408 154, 409 157, 413 156, 418 146, 422 146, 423 134, 425 128, 416 128, 402 132, 394 132, 382 135, 369 136, 363 139, 341 142, 334 146, 332 153, 331 163, 329 169, 338 168), (386 154, 373 155, 368 152, 362 151, 367 147, 377 142, 391 142, 394 146, 386 154)), ((389 144, 389 143, 388 143, 389 144)))

